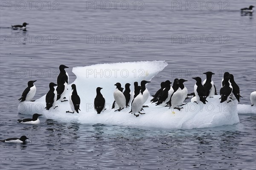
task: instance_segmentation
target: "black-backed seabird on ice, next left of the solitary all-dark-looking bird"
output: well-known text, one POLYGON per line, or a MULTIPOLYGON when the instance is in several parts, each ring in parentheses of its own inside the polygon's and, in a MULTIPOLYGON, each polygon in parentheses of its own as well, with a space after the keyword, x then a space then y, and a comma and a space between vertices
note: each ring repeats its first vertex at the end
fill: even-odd
POLYGON ((77 113, 79 113, 78 110, 80 110, 79 109, 79 107, 80 107, 80 98, 79 98, 79 95, 77 94, 77 91, 76 91, 76 84, 72 84, 71 87, 72 87, 72 92, 70 93, 69 102, 70 102, 70 107, 71 107, 72 112, 66 111, 66 113, 74 113, 75 111, 77 113))

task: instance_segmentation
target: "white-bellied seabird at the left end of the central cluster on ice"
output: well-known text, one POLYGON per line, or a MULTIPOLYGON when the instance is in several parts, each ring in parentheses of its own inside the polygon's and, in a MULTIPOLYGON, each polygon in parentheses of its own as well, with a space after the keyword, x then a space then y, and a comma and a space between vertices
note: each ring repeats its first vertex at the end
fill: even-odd
POLYGON ((116 83, 115 86, 116 86, 116 90, 114 91, 113 95, 119 107, 119 109, 115 110, 116 112, 116 111, 121 111, 122 109, 125 108, 126 100, 125 100, 125 95, 122 93, 121 84, 116 83))

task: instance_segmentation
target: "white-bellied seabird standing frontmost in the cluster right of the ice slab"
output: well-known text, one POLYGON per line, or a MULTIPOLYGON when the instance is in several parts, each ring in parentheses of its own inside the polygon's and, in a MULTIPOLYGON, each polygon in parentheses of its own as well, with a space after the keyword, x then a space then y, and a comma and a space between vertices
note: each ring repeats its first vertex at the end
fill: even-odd
POLYGON ((166 106, 169 106, 169 108, 174 108, 174 109, 178 109, 180 110, 181 108, 179 108, 178 106, 180 106, 182 104, 182 99, 183 99, 183 92, 180 89, 179 86, 180 82, 178 78, 175 78, 173 85, 172 85, 172 89, 173 89, 173 93, 170 97, 170 100, 166 103, 166 106))

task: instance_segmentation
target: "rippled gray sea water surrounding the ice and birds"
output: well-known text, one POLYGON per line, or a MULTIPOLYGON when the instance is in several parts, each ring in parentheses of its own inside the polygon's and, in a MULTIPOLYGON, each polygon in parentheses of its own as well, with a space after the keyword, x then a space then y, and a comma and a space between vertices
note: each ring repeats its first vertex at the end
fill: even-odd
POLYGON ((148 89, 175 78, 195 81, 208 70, 217 91, 229 71, 241 104, 256 90, 255 0, 0 0, 0 138, 26 135, 28 144, 0 143, 0 169, 256 169, 256 116, 214 128, 166 130, 77 124, 41 118, 18 124, 27 81, 36 98, 55 81, 58 66, 165 60, 148 89), (29 23, 27 31, 11 25, 29 23))

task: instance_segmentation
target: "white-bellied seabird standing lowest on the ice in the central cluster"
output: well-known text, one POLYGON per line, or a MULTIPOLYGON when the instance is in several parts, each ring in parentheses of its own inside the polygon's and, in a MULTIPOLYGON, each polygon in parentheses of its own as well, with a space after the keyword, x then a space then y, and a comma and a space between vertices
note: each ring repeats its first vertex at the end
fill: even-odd
POLYGON ((140 113, 140 114, 145 114, 145 113, 141 113, 141 109, 143 107, 143 95, 141 94, 141 86, 137 86, 136 89, 134 90, 134 99, 131 102, 131 112, 138 117, 139 115, 137 115, 136 113, 140 113))

